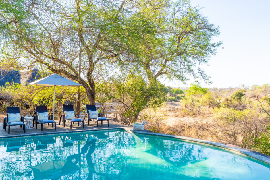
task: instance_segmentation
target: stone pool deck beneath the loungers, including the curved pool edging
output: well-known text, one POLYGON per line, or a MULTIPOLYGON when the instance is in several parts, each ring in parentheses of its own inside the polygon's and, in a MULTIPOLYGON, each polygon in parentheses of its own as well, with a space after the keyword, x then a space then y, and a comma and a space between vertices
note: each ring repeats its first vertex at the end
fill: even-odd
MULTIPOLYGON (((57 122, 57 121, 56 121, 57 122)), ((86 122, 86 125, 84 126, 84 129, 82 126, 78 125, 72 125, 72 129, 70 129, 70 125, 66 125, 65 127, 63 124, 59 125, 57 123, 57 129, 55 131, 54 128, 51 127, 51 125, 43 125, 43 132, 41 132, 41 126, 38 125, 37 129, 26 129, 26 133, 20 128, 20 126, 12 126, 10 129, 10 134, 8 134, 8 130, 5 131, 3 129, 3 123, 0 123, 0 139, 3 138, 13 138, 13 137, 20 137, 20 136, 35 136, 35 135, 48 135, 48 134, 60 134, 60 133, 69 133, 69 132, 87 132, 87 131, 99 131, 99 130, 117 130, 117 129, 122 129, 130 133, 134 134, 140 134, 143 136, 155 136, 155 137, 163 137, 163 138, 169 138, 169 139, 175 139, 175 140, 182 140, 185 142, 190 142, 190 143, 196 143, 200 144, 202 146, 209 146, 209 147, 214 147, 214 148, 219 148, 221 150, 229 151, 238 155, 246 156, 249 158, 252 158, 254 160, 259 160, 260 162, 270 165, 270 156, 267 156, 265 154, 261 154, 256 151, 240 148, 237 146, 230 146, 228 144, 223 144, 223 143, 218 143, 218 142, 213 142, 213 141, 207 141, 207 140, 201 140, 201 139, 196 139, 196 138, 190 138, 190 137, 185 137, 185 136, 176 136, 176 135, 169 135, 169 134, 160 134, 160 133, 154 133, 149 130, 143 130, 143 131, 134 131, 132 127, 126 126, 126 125, 121 125, 115 123, 115 121, 110 120, 109 121, 109 127, 107 123, 99 123, 99 127, 96 126, 95 121, 90 121, 90 125, 88 126, 88 122, 86 122)), ((68 124, 68 123, 67 123, 68 124)))

